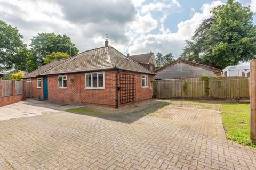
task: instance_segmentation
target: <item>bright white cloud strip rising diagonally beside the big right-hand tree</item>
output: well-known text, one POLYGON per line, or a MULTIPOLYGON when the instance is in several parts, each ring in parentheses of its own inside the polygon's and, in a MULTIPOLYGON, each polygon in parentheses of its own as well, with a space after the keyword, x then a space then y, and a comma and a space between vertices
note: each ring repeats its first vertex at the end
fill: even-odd
POLYGON ((185 40, 190 39, 198 25, 211 16, 211 9, 221 4, 223 4, 221 1, 204 4, 201 8, 202 12, 196 12, 191 19, 180 22, 177 26, 178 31, 175 33, 162 30, 162 33, 158 34, 140 35, 129 47, 129 54, 146 53, 152 50, 163 54, 172 52, 178 57, 185 46, 185 40))

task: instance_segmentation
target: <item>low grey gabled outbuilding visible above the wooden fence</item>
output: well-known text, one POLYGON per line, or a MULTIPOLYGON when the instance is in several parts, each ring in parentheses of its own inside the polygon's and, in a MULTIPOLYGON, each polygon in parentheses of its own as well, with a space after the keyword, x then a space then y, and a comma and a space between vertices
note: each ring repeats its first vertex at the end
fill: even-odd
POLYGON ((180 79, 200 77, 203 73, 209 76, 220 76, 221 70, 207 65, 191 62, 188 60, 177 60, 154 71, 154 79, 180 79))

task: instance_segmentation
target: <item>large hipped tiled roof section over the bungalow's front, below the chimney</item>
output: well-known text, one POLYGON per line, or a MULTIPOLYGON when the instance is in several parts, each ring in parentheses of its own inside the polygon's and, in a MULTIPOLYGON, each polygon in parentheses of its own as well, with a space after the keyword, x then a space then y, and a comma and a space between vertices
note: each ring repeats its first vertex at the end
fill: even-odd
POLYGON ((53 67, 41 75, 89 72, 97 70, 121 69, 126 71, 154 74, 134 62, 111 46, 87 50, 66 62, 53 67))

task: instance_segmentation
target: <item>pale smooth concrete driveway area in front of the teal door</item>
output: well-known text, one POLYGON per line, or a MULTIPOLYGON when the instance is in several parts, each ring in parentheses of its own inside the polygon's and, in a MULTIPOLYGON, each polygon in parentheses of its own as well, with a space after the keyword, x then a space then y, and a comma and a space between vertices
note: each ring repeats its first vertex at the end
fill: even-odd
POLYGON ((55 103, 26 99, 11 105, 0 107, 0 121, 11 118, 38 116, 47 113, 65 111, 69 108, 81 107, 73 104, 55 103))

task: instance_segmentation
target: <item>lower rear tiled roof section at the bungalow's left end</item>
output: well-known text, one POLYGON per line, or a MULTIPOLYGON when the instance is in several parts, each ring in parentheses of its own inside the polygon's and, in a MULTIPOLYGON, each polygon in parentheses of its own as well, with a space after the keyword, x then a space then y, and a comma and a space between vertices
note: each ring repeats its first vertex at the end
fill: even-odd
POLYGON ((52 69, 53 67, 65 62, 69 60, 69 58, 63 58, 63 59, 60 59, 60 60, 55 60, 49 64, 46 64, 42 67, 39 67, 38 69, 34 70, 33 72, 30 72, 28 74, 26 74, 23 78, 34 78, 34 77, 37 77, 38 75, 52 69))

